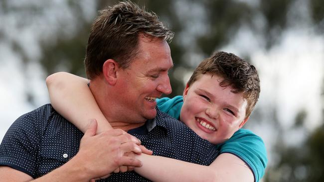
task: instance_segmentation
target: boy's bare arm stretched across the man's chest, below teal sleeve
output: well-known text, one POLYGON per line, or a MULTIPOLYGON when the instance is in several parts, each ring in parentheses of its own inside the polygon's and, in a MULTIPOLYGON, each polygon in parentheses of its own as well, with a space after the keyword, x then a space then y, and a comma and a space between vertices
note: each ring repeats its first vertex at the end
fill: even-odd
POLYGON ((141 154, 143 162, 135 171, 155 182, 254 182, 253 173, 238 157, 220 154, 210 166, 141 154))

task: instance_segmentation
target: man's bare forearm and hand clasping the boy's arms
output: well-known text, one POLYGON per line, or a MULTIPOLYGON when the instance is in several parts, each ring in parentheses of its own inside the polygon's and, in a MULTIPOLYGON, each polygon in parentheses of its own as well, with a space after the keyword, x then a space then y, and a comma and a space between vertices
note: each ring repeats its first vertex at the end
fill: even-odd
MULTIPOLYGON (((95 135, 97 122, 91 122, 80 143, 79 152, 63 166, 40 177, 34 182, 88 182, 91 179, 108 177, 120 166, 141 167, 140 160, 124 153, 140 153, 140 141, 120 129, 95 135)), ((33 180, 29 175, 9 167, 0 167, 3 182, 25 182, 33 180)))

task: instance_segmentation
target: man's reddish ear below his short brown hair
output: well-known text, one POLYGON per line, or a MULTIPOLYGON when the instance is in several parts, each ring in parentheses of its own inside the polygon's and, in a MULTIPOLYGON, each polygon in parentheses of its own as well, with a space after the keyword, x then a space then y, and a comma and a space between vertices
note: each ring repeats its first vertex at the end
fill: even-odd
POLYGON ((109 59, 105 61, 102 67, 102 73, 104 74, 105 80, 110 85, 115 85, 117 82, 117 70, 119 69, 119 65, 115 60, 109 59))

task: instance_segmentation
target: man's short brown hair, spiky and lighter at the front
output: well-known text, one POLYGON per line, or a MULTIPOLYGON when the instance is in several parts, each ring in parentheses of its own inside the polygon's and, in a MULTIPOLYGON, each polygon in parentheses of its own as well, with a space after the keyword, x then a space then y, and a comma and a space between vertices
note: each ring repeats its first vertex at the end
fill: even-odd
POLYGON ((102 73, 108 59, 123 69, 138 53, 139 34, 171 41, 173 32, 164 27, 154 12, 131 1, 122 1, 100 11, 92 24, 84 60, 88 79, 102 73))

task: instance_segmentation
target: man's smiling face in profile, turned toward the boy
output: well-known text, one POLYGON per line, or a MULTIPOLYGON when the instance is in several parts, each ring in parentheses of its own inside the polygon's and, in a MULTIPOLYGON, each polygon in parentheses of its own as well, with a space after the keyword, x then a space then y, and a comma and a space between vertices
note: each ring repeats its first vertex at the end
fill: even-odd
POLYGON ((127 119, 143 122, 156 116, 156 98, 171 93, 168 70, 173 66, 170 48, 165 41, 140 36, 140 54, 131 65, 119 72, 120 101, 127 119), (124 94, 126 93, 126 94, 124 94))

